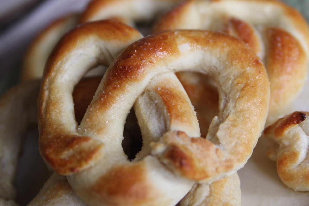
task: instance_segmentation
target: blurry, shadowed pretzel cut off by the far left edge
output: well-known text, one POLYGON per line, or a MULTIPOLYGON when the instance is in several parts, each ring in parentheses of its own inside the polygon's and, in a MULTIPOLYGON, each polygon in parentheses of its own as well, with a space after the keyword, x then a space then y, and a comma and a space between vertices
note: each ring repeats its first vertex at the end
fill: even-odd
POLYGON ((19 148, 28 127, 36 121, 40 82, 30 81, 7 91, 0 99, 0 202, 15 200, 14 186, 19 148))

